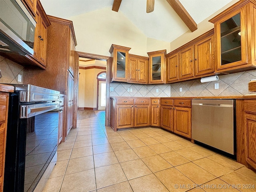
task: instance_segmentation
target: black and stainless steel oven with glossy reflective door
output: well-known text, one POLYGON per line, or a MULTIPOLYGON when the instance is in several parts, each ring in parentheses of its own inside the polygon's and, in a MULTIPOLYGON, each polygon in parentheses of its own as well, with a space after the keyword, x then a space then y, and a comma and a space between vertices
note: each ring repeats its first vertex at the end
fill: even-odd
MULTIPOLYGON (((33 191, 53 158, 58 142, 60 92, 14 85, 10 93, 4 191, 33 191)), ((55 164, 55 163, 54 163, 55 164)))

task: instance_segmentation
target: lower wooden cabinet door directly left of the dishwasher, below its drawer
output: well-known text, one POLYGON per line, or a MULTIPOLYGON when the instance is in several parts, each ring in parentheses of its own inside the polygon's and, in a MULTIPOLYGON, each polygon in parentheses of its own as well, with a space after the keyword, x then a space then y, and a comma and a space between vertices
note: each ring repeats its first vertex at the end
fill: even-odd
POLYGON ((174 133, 191 138, 191 108, 174 107, 174 133))

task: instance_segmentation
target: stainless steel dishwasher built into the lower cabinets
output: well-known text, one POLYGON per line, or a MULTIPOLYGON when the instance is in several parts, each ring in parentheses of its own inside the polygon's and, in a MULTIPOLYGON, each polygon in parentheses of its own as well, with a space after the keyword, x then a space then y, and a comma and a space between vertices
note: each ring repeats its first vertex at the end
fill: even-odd
POLYGON ((193 99, 192 139, 235 154, 235 100, 193 99))

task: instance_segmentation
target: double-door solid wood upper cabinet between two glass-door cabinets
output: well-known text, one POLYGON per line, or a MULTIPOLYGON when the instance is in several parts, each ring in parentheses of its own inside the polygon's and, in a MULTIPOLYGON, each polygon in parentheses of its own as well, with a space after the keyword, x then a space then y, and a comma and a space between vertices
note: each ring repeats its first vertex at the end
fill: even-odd
POLYGON ((128 82, 148 83, 148 58, 129 54, 128 82))

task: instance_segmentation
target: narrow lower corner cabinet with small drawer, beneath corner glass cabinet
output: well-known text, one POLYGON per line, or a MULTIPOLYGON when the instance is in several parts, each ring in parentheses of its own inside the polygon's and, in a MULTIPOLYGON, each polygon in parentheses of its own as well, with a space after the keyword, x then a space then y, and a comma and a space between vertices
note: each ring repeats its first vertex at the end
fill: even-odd
POLYGON ((160 98, 150 99, 151 103, 151 126, 161 126, 161 107, 160 98))

